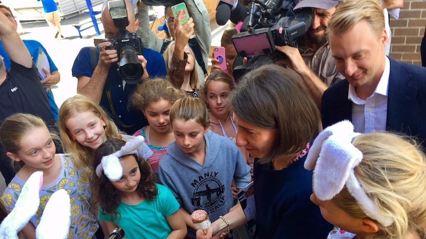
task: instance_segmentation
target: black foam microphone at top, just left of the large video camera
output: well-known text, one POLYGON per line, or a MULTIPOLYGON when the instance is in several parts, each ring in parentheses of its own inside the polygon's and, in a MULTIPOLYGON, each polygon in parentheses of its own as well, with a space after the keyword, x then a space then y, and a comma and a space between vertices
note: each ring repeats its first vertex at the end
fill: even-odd
POLYGON ((228 20, 234 24, 244 21, 249 15, 249 9, 238 0, 219 0, 216 7, 216 23, 219 26, 225 25, 228 20))

